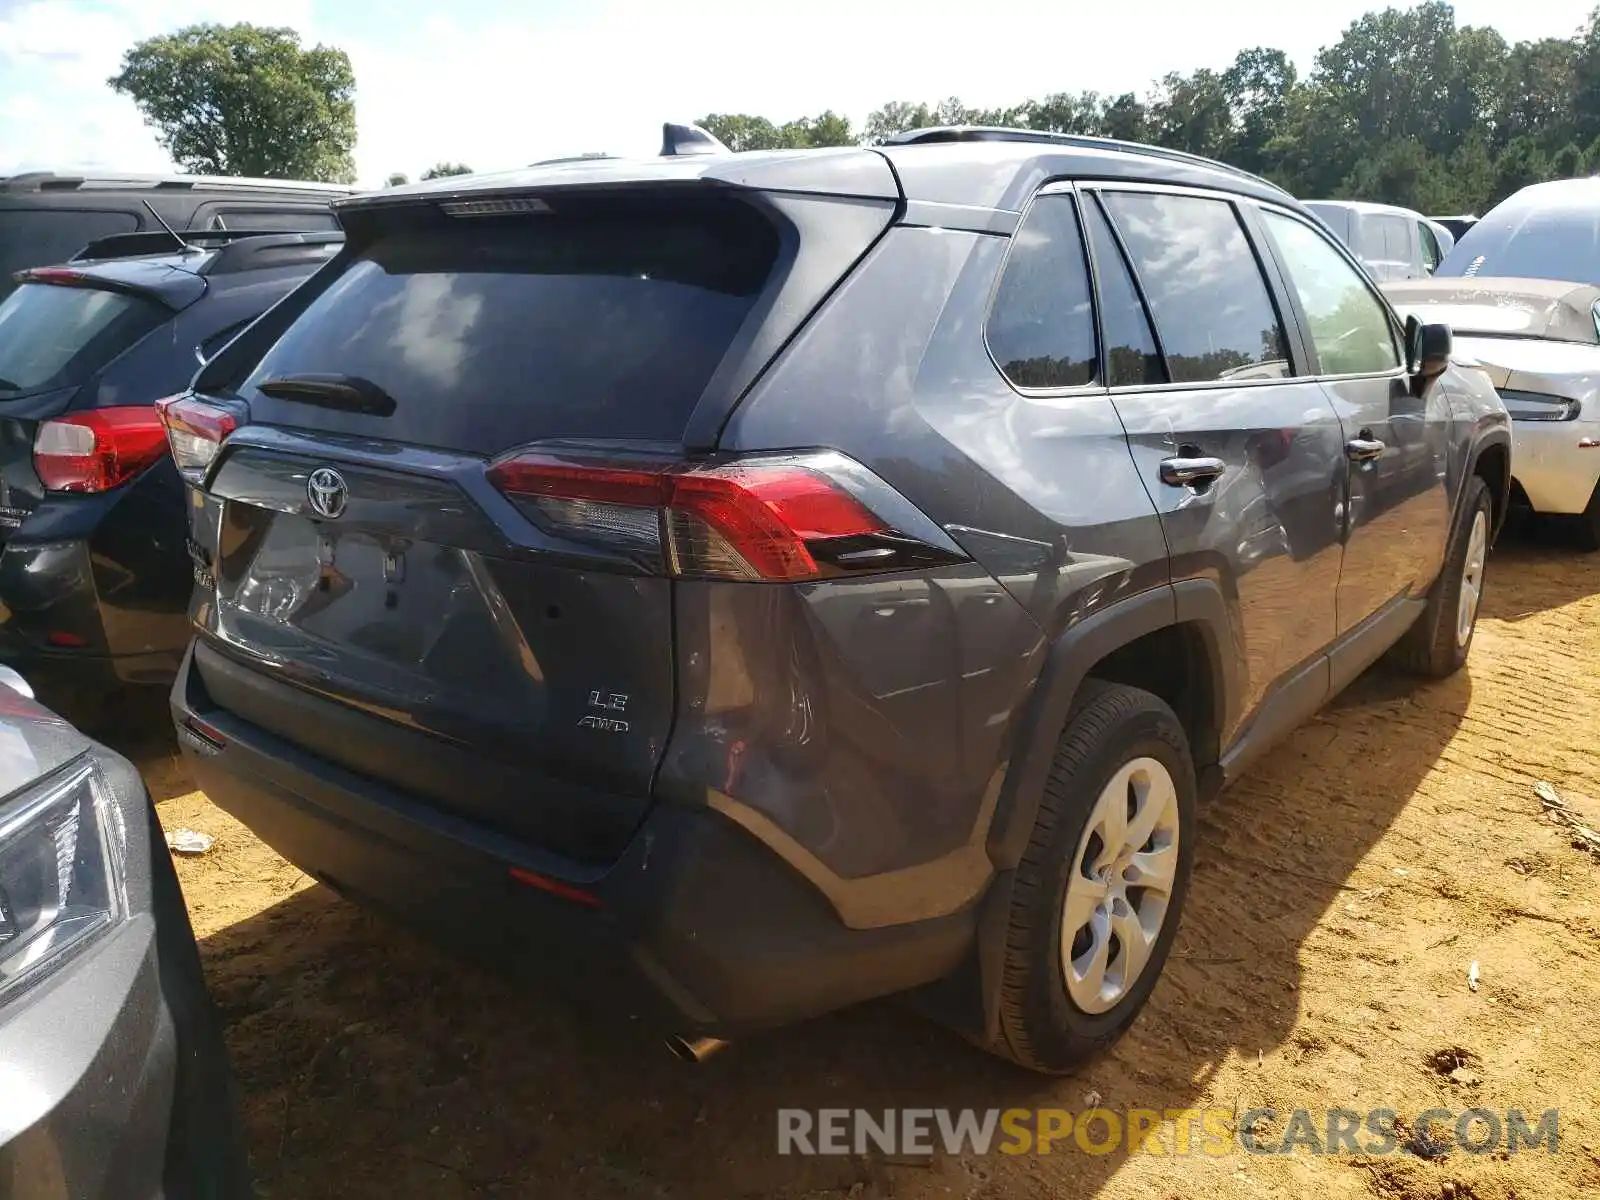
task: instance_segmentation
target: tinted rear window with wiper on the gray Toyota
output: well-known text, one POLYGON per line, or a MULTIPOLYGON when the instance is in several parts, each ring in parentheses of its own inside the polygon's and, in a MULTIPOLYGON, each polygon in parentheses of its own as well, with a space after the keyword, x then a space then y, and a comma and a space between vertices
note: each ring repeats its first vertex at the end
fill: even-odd
POLYGON ((368 245, 242 394, 272 378, 355 376, 394 398, 390 416, 262 410, 480 453, 554 437, 677 440, 778 254, 771 224, 738 202, 442 221, 368 245))

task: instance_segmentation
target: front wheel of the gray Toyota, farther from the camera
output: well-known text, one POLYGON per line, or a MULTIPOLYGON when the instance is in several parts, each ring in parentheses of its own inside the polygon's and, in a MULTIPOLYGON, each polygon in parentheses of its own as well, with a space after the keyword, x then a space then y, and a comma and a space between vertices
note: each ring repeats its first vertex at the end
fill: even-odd
POLYGON ((1402 670, 1446 678, 1466 664, 1483 602, 1493 528, 1494 502, 1488 483, 1474 475, 1467 480, 1461 510, 1450 531, 1445 566, 1434 581, 1427 608, 1390 651, 1390 659, 1402 670))

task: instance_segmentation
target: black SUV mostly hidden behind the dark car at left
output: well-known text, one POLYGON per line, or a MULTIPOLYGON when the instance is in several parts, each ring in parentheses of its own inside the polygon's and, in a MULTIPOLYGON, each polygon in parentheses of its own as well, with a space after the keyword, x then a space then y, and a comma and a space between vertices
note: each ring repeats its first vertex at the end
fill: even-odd
POLYGON ((206 174, 0 176, 0 299, 27 267, 62 262, 114 234, 173 229, 338 230, 330 205, 354 194, 342 184, 206 174))

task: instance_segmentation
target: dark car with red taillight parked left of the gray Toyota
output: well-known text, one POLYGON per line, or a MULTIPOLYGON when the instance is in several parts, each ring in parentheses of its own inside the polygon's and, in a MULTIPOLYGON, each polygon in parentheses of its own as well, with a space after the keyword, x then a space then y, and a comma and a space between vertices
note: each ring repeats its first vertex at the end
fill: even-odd
POLYGON ((126 234, 0 301, 0 661, 85 715, 189 640, 184 488, 155 400, 326 262, 339 234, 126 234))

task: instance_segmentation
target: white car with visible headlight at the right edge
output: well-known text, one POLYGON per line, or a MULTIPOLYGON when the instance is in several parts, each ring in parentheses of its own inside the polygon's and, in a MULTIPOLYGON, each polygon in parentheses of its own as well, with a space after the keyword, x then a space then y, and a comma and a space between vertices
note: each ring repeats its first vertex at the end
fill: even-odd
POLYGON ((1578 518, 1600 549, 1600 286, 1538 278, 1382 285, 1402 314, 1456 331, 1512 416, 1512 474, 1534 512, 1578 518))

